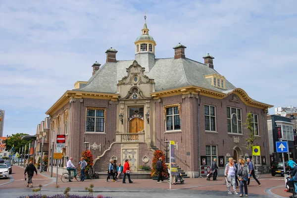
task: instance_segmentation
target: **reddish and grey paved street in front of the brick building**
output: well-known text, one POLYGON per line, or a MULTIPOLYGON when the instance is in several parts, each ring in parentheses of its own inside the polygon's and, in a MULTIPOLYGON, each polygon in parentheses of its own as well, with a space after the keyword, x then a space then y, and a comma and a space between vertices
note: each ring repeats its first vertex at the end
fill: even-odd
MULTIPOLYGON (((13 179, 11 183, 1 186, 0 183, 0 197, 2 198, 17 198, 21 195, 33 195, 32 189, 26 188, 26 182, 23 178, 24 169, 22 167, 14 166, 15 174, 12 174, 13 179)), ((47 173, 49 174, 49 173, 47 173)), ((11 177, 11 178, 12 178, 11 177)), ((255 181, 251 181, 248 187, 249 197, 253 198, 272 198, 274 196, 268 195, 269 188, 277 188, 284 186, 282 177, 271 177, 269 174, 261 175, 261 187, 256 186, 255 181), (265 190, 267 193, 265 193, 265 190)), ((6 180, 7 181, 7 180, 6 180)), ((34 187, 39 184, 43 185, 43 195, 55 195, 55 178, 49 178, 47 175, 38 174, 33 179, 34 187)), ((162 198, 231 198, 239 197, 238 195, 228 195, 226 185, 223 177, 219 177, 218 181, 206 181, 205 178, 186 179, 184 185, 173 185, 172 190, 169 190, 167 183, 156 183, 155 180, 134 180, 133 184, 122 184, 121 181, 114 183, 105 183, 104 180, 85 180, 85 182, 62 183, 58 179, 58 194, 62 194, 66 187, 70 187, 70 194, 86 195, 85 187, 90 184, 94 185, 94 196, 103 195, 112 198, 152 198, 160 196, 162 198)), ((239 189, 238 189, 239 191, 239 189)), ((284 193, 282 187, 278 188, 277 194, 284 197, 289 197, 289 193, 284 193)), ((272 194, 273 195, 273 194, 272 194)), ((282 197, 278 197, 282 198, 282 197)))

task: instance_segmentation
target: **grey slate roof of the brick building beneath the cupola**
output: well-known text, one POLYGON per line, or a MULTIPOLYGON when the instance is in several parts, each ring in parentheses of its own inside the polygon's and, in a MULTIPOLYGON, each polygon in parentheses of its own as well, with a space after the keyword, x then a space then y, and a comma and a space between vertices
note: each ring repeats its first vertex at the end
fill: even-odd
MULTIPOLYGON (((132 65, 134 60, 119 60, 107 62, 89 79, 89 83, 77 91, 116 93, 117 83, 127 76, 126 68, 132 65)), ((236 87, 225 80, 225 88, 219 89, 211 86, 211 83, 204 77, 209 74, 219 74, 214 69, 203 63, 189 58, 159 58, 149 72, 145 74, 154 79, 155 91, 169 90, 174 88, 197 86, 217 92, 226 93, 236 87)))

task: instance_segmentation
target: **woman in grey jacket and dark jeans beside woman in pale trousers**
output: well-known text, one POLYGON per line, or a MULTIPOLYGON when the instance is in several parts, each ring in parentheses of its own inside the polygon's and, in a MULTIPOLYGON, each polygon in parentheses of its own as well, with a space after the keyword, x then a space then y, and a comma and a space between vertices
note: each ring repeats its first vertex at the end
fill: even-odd
POLYGON ((243 197, 244 195, 244 187, 245 187, 245 194, 246 197, 247 195, 247 180, 250 177, 249 175, 249 168, 248 165, 245 163, 245 159, 241 158, 238 160, 239 161, 239 166, 238 166, 238 171, 237 171, 237 175, 238 175, 238 179, 240 182, 240 195, 239 197, 243 197))

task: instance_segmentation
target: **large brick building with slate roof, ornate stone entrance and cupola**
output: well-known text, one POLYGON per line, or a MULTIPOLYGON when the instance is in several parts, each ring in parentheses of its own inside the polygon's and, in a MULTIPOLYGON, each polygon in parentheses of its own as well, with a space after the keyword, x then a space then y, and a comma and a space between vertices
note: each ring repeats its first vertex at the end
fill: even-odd
POLYGON ((251 156, 242 126, 251 112, 255 144, 269 160, 266 113, 272 106, 233 86, 215 70, 209 54, 200 63, 178 44, 173 58, 155 58, 156 42, 148 31, 145 22, 135 41, 135 60, 117 60, 118 51, 107 49, 105 64, 95 62, 92 77, 77 81, 46 112, 53 139, 66 135, 64 156, 77 163, 88 141, 96 170, 105 171, 109 159, 130 159, 138 172, 139 165, 151 165, 154 149, 164 150, 164 141, 173 140, 177 164, 198 177, 200 165, 214 157, 224 166, 228 157, 251 156))

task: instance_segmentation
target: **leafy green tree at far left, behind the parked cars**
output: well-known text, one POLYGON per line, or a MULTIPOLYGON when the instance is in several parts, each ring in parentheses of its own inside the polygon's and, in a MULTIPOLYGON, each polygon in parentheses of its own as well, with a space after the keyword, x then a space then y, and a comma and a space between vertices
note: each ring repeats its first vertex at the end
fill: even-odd
POLYGON ((12 134, 12 136, 8 136, 8 138, 5 140, 6 150, 11 149, 14 145, 14 152, 18 152, 19 148, 21 148, 21 151, 22 151, 22 147, 24 147, 25 149, 25 145, 27 145, 26 151, 28 151, 29 149, 28 146, 30 141, 22 140, 22 137, 27 135, 28 134, 17 133, 17 134, 12 134))

